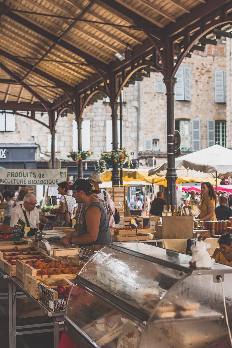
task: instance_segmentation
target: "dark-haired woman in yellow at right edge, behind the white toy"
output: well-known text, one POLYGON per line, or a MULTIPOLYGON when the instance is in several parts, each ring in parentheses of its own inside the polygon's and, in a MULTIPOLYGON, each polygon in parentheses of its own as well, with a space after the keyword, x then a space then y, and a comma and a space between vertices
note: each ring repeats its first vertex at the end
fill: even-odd
POLYGON ((221 235, 218 239, 219 248, 216 248, 213 259, 216 262, 232 267, 232 238, 229 233, 221 235))

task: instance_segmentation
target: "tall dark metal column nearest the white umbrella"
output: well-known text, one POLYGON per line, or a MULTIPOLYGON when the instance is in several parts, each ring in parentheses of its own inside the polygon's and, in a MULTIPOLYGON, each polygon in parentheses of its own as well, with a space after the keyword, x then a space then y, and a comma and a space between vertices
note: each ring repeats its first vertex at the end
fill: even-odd
POLYGON ((165 77, 163 82, 167 88, 167 150, 168 168, 166 179, 168 183, 168 205, 172 209, 176 205, 176 168, 175 168, 175 119, 174 119, 174 85, 175 77, 165 77))

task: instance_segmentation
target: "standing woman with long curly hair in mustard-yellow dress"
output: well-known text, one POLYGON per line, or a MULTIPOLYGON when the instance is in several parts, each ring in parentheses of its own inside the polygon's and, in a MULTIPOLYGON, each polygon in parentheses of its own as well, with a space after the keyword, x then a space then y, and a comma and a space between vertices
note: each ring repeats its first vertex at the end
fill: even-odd
POLYGON ((197 221, 217 220, 215 214, 216 193, 210 182, 201 184, 201 201, 199 204, 200 213, 196 216, 197 221))

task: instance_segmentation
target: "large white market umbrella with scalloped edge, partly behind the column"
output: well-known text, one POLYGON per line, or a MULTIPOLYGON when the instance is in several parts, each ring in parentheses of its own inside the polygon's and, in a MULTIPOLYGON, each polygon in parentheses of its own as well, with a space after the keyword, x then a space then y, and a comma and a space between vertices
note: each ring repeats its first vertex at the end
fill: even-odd
MULTIPOLYGON (((232 176, 232 150, 224 148, 221 145, 213 145, 209 148, 195 151, 177 157, 175 159, 177 177, 186 176, 207 181, 208 177, 216 179, 225 179, 232 176), (204 180, 205 179, 205 180, 204 180)), ((149 175, 156 174, 164 176, 167 173, 168 163, 155 167, 149 171, 149 175)))

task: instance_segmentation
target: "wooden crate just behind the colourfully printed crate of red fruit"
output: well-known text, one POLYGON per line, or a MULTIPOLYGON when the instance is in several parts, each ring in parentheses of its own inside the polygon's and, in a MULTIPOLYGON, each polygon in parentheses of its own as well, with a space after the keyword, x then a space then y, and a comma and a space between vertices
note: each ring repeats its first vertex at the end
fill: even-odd
POLYGON ((24 276, 24 290, 32 295, 35 299, 38 299, 38 284, 42 283, 44 280, 48 282, 48 284, 54 283, 56 280, 65 280, 67 283, 72 285, 71 280, 76 277, 77 274, 66 274, 66 275, 54 275, 50 278, 45 276, 31 276, 30 274, 25 274, 24 276))

